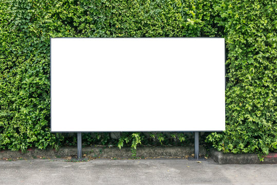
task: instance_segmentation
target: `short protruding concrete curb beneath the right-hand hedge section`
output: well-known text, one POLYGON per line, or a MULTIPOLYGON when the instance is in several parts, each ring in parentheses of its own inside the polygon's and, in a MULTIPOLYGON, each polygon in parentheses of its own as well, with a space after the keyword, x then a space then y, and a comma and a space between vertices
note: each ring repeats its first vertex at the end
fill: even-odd
POLYGON ((277 164, 277 153, 269 153, 264 161, 260 161, 257 154, 224 154, 215 149, 208 154, 218 164, 277 164))

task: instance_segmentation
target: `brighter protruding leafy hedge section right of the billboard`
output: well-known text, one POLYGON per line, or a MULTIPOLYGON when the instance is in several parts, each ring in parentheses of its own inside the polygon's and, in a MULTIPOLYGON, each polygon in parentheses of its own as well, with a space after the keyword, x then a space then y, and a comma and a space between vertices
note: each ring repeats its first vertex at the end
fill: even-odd
POLYGON ((219 1, 227 55, 226 131, 207 141, 225 153, 268 154, 277 141, 277 4, 219 1))

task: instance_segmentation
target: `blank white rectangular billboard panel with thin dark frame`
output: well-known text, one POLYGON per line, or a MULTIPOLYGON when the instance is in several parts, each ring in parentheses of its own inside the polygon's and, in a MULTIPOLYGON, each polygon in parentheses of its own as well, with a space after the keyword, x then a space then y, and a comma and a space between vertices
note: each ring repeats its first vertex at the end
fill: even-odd
POLYGON ((51 39, 52 132, 224 130, 224 39, 51 39))

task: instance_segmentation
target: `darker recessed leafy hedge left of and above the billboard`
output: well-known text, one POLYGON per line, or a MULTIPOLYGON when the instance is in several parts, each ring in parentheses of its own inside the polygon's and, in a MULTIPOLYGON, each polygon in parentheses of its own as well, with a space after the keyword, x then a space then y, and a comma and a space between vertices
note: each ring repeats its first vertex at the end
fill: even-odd
POLYGON ((215 36, 209 9, 209 2, 1 1, 0 149, 57 148, 67 138, 49 128, 50 37, 215 36))

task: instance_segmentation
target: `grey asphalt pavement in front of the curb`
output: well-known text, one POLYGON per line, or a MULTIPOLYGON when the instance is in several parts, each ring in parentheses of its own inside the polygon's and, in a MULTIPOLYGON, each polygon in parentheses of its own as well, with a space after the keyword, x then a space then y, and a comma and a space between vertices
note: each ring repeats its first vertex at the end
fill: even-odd
POLYGON ((0 184, 277 184, 277 164, 218 165, 212 159, 0 160, 0 184))

